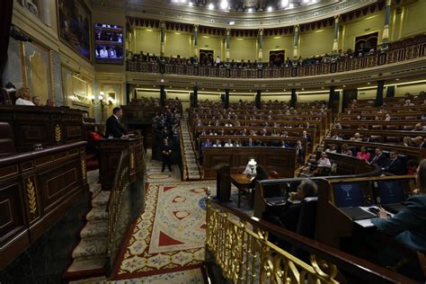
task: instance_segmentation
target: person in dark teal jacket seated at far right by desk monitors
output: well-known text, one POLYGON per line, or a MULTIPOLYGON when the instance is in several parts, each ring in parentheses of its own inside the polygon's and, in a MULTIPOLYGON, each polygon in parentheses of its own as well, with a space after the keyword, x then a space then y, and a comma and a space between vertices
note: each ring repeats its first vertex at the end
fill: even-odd
POLYGON ((417 170, 415 195, 406 200, 406 206, 394 217, 389 217, 380 209, 377 218, 371 219, 377 229, 386 235, 394 235, 414 251, 426 253, 426 160, 422 160, 417 170))

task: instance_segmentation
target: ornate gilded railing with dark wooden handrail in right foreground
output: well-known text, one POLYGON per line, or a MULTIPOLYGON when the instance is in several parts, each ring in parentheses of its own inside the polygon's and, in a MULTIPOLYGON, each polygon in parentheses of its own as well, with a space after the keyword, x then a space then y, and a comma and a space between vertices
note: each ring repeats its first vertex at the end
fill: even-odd
POLYGON ((413 283, 400 274, 248 217, 209 196, 206 250, 232 283, 339 283, 345 272, 366 283, 413 283), (272 244, 270 234, 308 253, 309 262, 272 244))

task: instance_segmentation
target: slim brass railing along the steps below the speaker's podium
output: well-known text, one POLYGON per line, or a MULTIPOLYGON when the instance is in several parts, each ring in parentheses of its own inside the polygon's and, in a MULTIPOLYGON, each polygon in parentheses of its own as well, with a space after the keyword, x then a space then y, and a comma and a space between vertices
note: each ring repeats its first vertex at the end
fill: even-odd
POLYGON ((107 265, 113 267, 117 252, 120 248, 120 240, 123 235, 117 235, 122 226, 126 224, 119 224, 119 217, 121 211, 121 203, 126 191, 129 190, 129 152, 124 150, 121 152, 117 172, 115 173, 114 183, 110 193, 110 200, 108 201, 108 247, 107 247, 107 265))

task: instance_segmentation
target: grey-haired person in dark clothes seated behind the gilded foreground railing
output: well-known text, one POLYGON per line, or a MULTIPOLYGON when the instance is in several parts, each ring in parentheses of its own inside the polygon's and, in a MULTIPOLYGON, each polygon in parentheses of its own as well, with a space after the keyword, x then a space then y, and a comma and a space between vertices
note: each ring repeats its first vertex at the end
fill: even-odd
POLYGON ((290 192, 289 194, 288 202, 279 217, 280 226, 296 232, 298 217, 300 215, 300 209, 302 209, 303 200, 306 197, 315 197, 317 191, 318 187, 315 182, 311 180, 300 182, 297 186, 297 191, 290 192))

